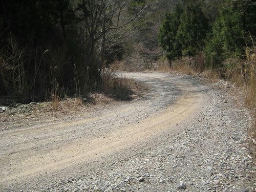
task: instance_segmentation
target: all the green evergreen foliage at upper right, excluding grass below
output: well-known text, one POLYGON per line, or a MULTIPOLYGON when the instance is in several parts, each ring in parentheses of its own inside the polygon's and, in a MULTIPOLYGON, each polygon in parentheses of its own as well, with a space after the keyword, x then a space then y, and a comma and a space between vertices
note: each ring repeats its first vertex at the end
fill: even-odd
POLYGON ((249 0, 220 3, 188 0, 165 15, 158 41, 169 60, 203 50, 208 66, 221 67, 229 57, 243 57, 244 47, 252 46, 255 38, 256 6, 249 0))

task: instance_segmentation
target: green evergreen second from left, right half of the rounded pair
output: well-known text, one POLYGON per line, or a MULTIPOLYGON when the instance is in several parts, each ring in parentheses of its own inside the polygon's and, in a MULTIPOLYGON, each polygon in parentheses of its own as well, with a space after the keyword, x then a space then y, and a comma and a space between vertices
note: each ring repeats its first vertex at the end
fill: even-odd
POLYGON ((185 6, 180 20, 182 22, 177 32, 177 39, 182 47, 182 55, 193 56, 204 46, 208 20, 200 5, 192 1, 185 6))

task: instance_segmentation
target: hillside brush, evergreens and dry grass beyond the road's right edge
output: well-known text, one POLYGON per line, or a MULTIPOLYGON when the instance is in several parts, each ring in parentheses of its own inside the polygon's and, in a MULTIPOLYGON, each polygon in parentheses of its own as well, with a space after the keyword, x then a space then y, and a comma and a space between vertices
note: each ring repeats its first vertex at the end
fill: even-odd
POLYGON ((168 3, 165 8, 156 3, 157 11, 148 10, 145 23, 137 22, 137 38, 133 35, 125 42, 119 69, 179 71, 228 81, 254 114, 250 136, 255 144, 256 4, 250 0, 168 3))

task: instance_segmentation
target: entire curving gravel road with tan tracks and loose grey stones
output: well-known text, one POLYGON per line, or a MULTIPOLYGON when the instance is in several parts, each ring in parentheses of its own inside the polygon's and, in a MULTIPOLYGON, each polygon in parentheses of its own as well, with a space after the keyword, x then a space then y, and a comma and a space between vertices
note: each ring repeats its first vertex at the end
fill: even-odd
POLYGON ((125 75, 150 90, 2 129, 0 191, 254 191, 244 108, 197 78, 125 75))

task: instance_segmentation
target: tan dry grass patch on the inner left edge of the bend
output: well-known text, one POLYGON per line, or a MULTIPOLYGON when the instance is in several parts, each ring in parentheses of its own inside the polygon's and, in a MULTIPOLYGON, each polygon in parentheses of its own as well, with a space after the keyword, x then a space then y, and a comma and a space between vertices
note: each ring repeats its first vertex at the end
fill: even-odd
POLYGON ((89 93, 86 98, 67 98, 58 88, 58 83, 53 81, 49 91, 51 95, 47 97, 48 101, 42 103, 40 108, 33 108, 31 113, 36 116, 42 113, 58 115, 84 112, 95 106, 105 106, 117 100, 132 100, 141 96, 142 90, 147 90, 141 83, 118 74, 116 66, 102 68, 101 78, 99 91, 89 93))

